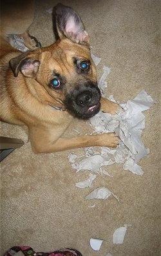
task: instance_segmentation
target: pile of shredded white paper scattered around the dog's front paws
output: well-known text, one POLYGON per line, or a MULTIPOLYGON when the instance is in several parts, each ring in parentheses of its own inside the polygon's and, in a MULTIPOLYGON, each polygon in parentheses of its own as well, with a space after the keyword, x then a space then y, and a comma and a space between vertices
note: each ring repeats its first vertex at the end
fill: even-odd
MULTIPOLYGON (((93 55, 92 57, 95 64, 98 65, 100 58, 93 55)), ((104 72, 99 81, 99 88, 102 94, 104 93, 104 88, 107 87, 105 80, 109 72, 109 67, 104 66, 104 72)), ((108 100, 118 103, 113 96, 110 96, 108 100)), ((95 151, 94 147, 87 147, 84 148, 83 156, 70 153, 68 156, 69 161, 77 172, 84 170, 90 171, 88 180, 76 183, 77 187, 90 187, 97 175, 112 176, 104 167, 115 163, 122 163, 124 170, 129 170, 137 175, 143 175, 144 172, 142 171, 142 167, 138 165, 138 161, 149 154, 149 149, 146 149, 142 142, 142 131, 145 128, 143 111, 149 109, 153 103, 154 101, 151 96, 143 90, 133 100, 128 100, 127 103, 120 104, 123 111, 118 112, 118 114, 112 115, 100 111, 90 118, 93 134, 115 131, 120 137, 120 144, 116 149, 100 147, 100 151, 95 151)), ((106 199, 110 195, 117 198, 106 187, 99 187, 91 192, 86 199, 106 199)))

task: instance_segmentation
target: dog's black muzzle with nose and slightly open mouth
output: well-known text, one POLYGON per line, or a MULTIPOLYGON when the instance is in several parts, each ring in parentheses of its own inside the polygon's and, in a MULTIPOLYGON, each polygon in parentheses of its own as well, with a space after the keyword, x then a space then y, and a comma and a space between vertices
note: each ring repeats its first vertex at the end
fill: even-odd
POLYGON ((79 118, 90 118, 100 111, 100 90, 97 85, 79 85, 66 96, 66 107, 79 118))

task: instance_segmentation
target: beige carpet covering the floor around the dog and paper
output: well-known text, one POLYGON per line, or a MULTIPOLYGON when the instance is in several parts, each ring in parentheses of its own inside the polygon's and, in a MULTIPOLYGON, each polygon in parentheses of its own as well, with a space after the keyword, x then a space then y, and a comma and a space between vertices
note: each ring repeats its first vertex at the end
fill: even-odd
MULTIPOLYGON (((159 101, 159 0, 61 1, 82 17, 90 34, 93 54, 111 67, 106 94, 121 103, 134 98, 142 89, 159 101)), ((52 17, 46 12, 57 1, 37 1, 30 33, 43 46, 54 41, 52 17)), ((124 171, 122 164, 106 170, 113 175, 97 176, 92 188, 79 189, 75 182, 88 178, 88 172, 75 173, 68 162, 70 152, 34 155, 26 130, 1 123, 1 134, 21 138, 20 149, 1 162, 1 255, 15 245, 32 246, 35 251, 52 251, 66 246, 84 256, 160 255, 160 107, 144 112, 146 129, 143 142, 150 154, 139 164, 144 175, 124 171), (106 186, 120 198, 85 200, 93 189, 106 186), (95 208, 90 208, 95 204, 95 208), (128 227, 123 244, 113 244, 113 232, 128 227), (100 251, 93 251, 90 238, 104 240, 100 251)), ((73 128, 90 134, 88 121, 75 121, 73 128)))

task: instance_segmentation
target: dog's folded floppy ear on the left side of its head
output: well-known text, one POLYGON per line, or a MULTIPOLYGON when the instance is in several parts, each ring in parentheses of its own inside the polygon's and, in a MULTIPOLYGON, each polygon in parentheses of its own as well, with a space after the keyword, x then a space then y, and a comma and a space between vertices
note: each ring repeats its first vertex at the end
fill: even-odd
POLYGON ((21 71, 24 76, 34 78, 39 69, 40 61, 38 59, 38 54, 23 53, 10 59, 9 64, 15 77, 17 77, 19 71, 21 71))

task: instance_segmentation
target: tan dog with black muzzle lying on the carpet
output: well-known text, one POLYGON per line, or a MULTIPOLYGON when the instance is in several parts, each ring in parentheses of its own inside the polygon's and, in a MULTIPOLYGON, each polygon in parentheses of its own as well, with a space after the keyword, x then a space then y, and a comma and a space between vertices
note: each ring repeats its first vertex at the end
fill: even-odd
MULTIPOLYGON (((1 120, 27 125, 36 153, 96 145, 116 147, 115 133, 61 138, 73 118, 90 118, 100 108, 115 114, 119 107, 100 97, 89 37, 81 18, 70 7, 59 4, 55 21, 59 39, 49 47, 22 54, 1 41, 1 50, 7 52, 1 56, 1 120)), ((4 27, 9 34, 7 29, 4 27)))

